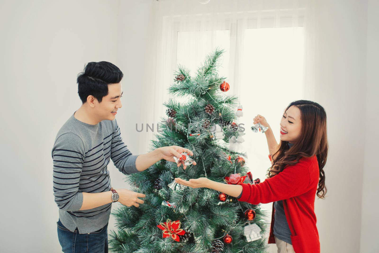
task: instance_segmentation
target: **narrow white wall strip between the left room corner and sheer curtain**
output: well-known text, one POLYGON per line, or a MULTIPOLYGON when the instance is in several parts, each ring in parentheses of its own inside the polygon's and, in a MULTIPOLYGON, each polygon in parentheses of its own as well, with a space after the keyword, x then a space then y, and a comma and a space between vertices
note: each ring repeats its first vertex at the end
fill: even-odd
MULTIPOLYGON (((146 146, 140 147, 139 139, 146 136, 146 132, 138 133, 136 123, 141 126, 141 101, 144 94, 142 91, 142 80, 146 72, 145 48, 147 42, 147 31, 150 17, 151 0, 128 0, 120 1, 118 13, 118 35, 117 35, 117 67, 124 73, 122 79, 122 108, 117 113, 117 123, 121 129, 121 136, 128 148, 134 154, 144 154, 146 146)), ((125 176, 114 167, 113 163, 108 166, 111 175, 111 183, 114 189, 127 188, 125 176)), ((112 210, 117 209, 115 203, 112 210)), ((117 230, 114 217, 111 215, 108 232, 117 230)))

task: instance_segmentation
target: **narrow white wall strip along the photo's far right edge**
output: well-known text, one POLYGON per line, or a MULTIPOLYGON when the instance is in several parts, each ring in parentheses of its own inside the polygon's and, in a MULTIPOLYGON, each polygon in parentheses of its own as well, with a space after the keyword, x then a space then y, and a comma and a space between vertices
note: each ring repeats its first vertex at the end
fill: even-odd
POLYGON ((363 164, 362 188, 362 226, 360 235, 360 252, 374 253, 378 251, 377 239, 379 236, 379 165, 376 160, 379 135, 375 133, 379 125, 379 86, 378 86, 378 59, 379 59, 379 1, 368 0, 367 6, 367 83, 365 114, 362 121, 365 132, 365 161, 363 164))

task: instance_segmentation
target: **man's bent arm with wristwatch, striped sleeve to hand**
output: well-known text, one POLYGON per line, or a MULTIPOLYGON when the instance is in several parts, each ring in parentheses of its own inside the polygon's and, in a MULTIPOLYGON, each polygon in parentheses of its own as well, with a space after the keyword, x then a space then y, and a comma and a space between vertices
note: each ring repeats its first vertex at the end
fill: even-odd
MULTIPOLYGON (((79 192, 80 173, 84 161, 84 145, 73 133, 60 136, 53 147, 53 189, 55 202, 61 210, 79 211, 103 206, 112 202, 112 192, 79 192)), ((117 189, 118 202, 125 206, 143 204, 138 197, 144 194, 128 189, 117 189)))

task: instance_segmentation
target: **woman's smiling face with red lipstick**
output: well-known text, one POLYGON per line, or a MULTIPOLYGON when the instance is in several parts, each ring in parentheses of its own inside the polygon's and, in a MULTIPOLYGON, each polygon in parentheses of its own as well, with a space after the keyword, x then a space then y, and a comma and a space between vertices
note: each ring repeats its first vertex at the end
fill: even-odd
POLYGON ((291 106, 284 112, 280 121, 280 140, 295 143, 301 134, 301 112, 297 106, 291 106))

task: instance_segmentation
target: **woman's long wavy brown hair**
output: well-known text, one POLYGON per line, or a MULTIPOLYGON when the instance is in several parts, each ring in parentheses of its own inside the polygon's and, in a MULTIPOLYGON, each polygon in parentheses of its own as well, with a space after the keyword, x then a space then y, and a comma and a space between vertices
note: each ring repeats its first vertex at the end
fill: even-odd
POLYGON ((316 155, 319 167, 317 196, 325 198, 327 189, 324 166, 328 153, 325 109, 312 101, 297 100, 290 103, 285 111, 291 106, 298 107, 301 112, 300 139, 291 148, 287 141, 280 141, 279 149, 272 155, 273 166, 268 171, 268 177, 277 175, 286 166, 297 164, 302 157, 311 158, 316 155))

